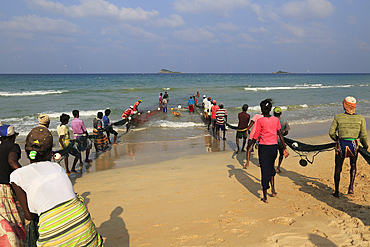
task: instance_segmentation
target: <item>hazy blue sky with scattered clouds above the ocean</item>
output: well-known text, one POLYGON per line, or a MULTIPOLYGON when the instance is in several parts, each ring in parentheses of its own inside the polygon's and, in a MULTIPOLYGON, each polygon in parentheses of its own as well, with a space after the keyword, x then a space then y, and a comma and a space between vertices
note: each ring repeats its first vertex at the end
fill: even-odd
POLYGON ((369 0, 3 0, 0 73, 370 73, 369 0))

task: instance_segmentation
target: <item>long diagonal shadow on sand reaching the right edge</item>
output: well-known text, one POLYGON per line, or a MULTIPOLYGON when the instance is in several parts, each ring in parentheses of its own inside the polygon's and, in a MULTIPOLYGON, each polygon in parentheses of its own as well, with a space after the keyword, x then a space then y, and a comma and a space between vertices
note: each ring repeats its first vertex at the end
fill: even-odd
POLYGON ((295 185, 299 186, 299 191, 307 193, 328 206, 347 213, 351 217, 360 219, 367 226, 370 225, 368 212, 360 210, 367 208, 367 206, 351 202, 347 195, 340 194, 339 198, 332 196, 333 188, 317 181, 317 178, 308 177, 294 171, 287 171, 284 168, 281 168, 281 173, 278 175, 292 180, 295 185))

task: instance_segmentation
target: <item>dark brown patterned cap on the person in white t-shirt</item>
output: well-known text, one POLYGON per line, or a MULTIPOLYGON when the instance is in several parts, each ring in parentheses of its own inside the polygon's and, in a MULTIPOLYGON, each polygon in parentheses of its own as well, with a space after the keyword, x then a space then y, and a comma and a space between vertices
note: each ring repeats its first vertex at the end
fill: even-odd
POLYGON ((28 133, 26 138, 26 151, 46 151, 53 146, 53 136, 48 128, 37 126, 28 133))

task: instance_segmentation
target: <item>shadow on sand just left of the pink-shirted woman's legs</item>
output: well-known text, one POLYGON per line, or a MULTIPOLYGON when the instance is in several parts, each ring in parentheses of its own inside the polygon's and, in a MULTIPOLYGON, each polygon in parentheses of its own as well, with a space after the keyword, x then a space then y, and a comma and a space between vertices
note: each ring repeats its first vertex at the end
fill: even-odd
POLYGON ((252 174, 249 174, 246 170, 241 168, 235 168, 234 165, 227 165, 230 169, 229 178, 235 176, 236 180, 243 185, 249 192, 255 195, 257 198, 260 197, 258 191, 261 190, 260 179, 256 178, 252 174), (257 181, 257 182, 256 182, 257 181))

